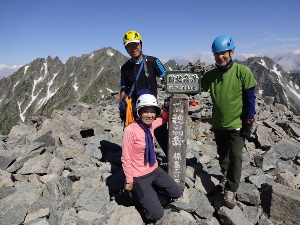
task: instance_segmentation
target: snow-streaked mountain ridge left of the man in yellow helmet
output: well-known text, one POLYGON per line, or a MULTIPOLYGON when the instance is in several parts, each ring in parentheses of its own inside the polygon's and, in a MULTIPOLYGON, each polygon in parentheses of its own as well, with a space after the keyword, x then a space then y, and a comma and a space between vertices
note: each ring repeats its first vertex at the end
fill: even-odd
POLYGON ((49 117, 74 101, 98 102, 119 89, 120 67, 127 60, 109 47, 65 64, 48 56, 24 65, 0 81, 0 133, 7 134, 19 120, 31 122, 32 114, 49 117))

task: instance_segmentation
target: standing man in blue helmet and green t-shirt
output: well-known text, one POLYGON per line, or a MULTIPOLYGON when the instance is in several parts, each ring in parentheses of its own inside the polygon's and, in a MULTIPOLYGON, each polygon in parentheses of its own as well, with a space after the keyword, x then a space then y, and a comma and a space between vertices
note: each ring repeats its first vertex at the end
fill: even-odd
MULTIPOLYGON (((214 130, 223 180, 217 185, 224 190, 224 205, 234 208, 241 178, 242 149, 252 134, 255 113, 255 86, 251 70, 232 61, 234 42, 229 35, 217 37, 211 46, 217 68, 201 79, 203 91, 210 90, 212 128, 214 130)), ((199 68, 195 72, 202 71, 199 68)))

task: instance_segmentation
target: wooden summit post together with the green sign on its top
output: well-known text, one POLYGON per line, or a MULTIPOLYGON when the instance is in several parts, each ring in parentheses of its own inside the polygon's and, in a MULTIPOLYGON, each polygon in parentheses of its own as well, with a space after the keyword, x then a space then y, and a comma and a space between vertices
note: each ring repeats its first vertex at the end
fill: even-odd
POLYGON ((185 93, 199 93, 201 75, 190 70, 166 71, 166 93, 171 98, 168 122, 168 174, 183 190, 187 156, 187 118, 189 97, 185 93))

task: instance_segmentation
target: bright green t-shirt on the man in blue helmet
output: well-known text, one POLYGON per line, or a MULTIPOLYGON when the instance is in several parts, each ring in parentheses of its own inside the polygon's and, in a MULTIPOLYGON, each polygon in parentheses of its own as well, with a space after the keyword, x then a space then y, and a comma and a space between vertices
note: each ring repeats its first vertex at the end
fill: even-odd
POLYGON ((220 130, 241 128, 244 91, 255 85, 257 83, 251 70, 237 63, 233 63, 225 73, 218 68, 205 73, 201 79, 201 89, 209 89, 211 93, 212 127, 220 130))

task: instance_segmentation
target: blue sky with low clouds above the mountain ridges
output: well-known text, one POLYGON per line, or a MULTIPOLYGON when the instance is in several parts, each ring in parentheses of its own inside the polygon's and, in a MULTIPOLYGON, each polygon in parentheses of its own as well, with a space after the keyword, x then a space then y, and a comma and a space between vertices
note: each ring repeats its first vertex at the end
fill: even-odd
POLYGON ((0 70, 109 46, 127 55, 122 38, 129 30, 163 63, 211 63, 212 41, 223 34, 234 39, 239 60, 300 53, 299 8, 298 0, 1 1, 0 70))

